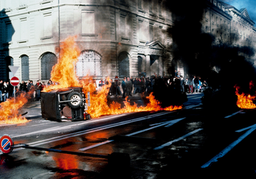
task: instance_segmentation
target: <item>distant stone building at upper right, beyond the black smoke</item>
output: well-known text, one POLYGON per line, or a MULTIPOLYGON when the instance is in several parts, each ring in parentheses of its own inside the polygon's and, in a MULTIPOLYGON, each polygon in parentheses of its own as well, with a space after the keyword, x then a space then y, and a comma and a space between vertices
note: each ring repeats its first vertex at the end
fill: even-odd
MULTIPOLYGON (((204 9, 202 31, 216 37, 215 44, 229 44, 233 47, 256 45, 256 28, 246 8, 238 10, 232 5, 208 0, 208 8, 204 9)), ((247 54, 243 54, 245 57, 247 54)), ((254 59, 248 59, 255 61, 254 59)))

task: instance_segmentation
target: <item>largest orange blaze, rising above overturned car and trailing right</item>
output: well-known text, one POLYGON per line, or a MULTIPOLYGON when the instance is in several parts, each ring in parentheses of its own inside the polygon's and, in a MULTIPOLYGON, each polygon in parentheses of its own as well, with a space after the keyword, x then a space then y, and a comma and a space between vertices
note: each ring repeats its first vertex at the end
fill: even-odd
MULTIPOLYGON (((101 90, 96 92, 95 80, 91 76, 85 76, 84 79, 78 80, 75 73, 75 64, 78 61, 80 50, 75 44, 76 37, 68 37, 62 42, 60 46, 60 55, 58 63, 52 67, 51 80, 57 82, 58 85, 48 86, 43 91, 48 92, 52 89, 59 89, 64 87, 81 87, 85 94, 91 94, 91 106, 88 107, 88 113, 95 118, 104 115, 121 114, 124 112, 142 112, 142 111, 159 111, 159 110, 176 110, 181 109, 181 106, 169 106, 168 108, 161 108, 158 100, 151 93, 147 98, 149 103, 147 106, 137 106, 135 103, 131 105, 128 98, 125 99, 125 107, 121 108, 121 104, 117 102, 111 103, 108 106, 108 91, 111 83, 105 85, 101 90)), ((108 81, 109 77, 108 77, 108 81)))

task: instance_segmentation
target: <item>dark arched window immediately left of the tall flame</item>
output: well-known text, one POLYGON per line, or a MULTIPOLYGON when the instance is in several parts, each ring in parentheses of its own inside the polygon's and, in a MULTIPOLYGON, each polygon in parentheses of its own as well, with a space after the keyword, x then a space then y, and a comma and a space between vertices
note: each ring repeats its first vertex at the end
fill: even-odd
POLYGON ((46 52, 41 59, 41 79, 49 80, 51 78, 52 67, 57 63, 57 57, 51 52, 46 52))

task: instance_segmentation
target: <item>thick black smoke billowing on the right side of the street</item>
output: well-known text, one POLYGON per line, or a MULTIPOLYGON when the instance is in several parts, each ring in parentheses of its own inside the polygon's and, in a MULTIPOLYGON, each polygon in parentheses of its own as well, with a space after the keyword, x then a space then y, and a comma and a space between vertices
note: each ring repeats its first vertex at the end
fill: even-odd
POLYGON ((224 41, 225 24, 215 30, 218 35, 201 31, 204 11, 209 8, 207 0, 166 3, 173 21, 168 28, 173 44, 168 48, 173 51, 174 59, 184 63, 190 77, 201 76, 212 89, 221 89, 221 100, 228 99, 231 103, 235 101, 234 85, 241 86, 245 93, 254 93, 249 89, 250 81, 256 82, 251 41, 238 44, 241 36, 236 32, 229 33, 231 41, 224 41))

